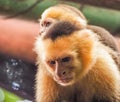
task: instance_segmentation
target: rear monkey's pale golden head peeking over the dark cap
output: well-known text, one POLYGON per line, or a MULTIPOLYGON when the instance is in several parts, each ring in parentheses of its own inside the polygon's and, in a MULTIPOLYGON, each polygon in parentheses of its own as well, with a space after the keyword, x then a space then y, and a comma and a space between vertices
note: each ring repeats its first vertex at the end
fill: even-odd
POLYGON ((67 21, 76 25, 80 29, 85 28, 87 20, 76 8, 68 5, 56 5, 46 9, 40 19, 40 34, 46 32, 48 28, 59 21, 67 21))

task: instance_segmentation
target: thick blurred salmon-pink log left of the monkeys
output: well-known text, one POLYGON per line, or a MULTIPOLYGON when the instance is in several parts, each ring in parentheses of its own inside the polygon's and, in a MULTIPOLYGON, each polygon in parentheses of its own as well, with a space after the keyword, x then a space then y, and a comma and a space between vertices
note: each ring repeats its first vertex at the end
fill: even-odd
POLYGON ((34 63, 38 32, 39 24, 34 22, 0 17, 0 53, 34 63))

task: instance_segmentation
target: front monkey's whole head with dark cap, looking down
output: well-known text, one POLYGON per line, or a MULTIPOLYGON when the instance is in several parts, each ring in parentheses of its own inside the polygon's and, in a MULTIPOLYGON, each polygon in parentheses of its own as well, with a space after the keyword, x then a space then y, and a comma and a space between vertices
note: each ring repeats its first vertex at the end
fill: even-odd
POLYGON ((69 22, 59 21, 37 38, 38 60, 58 84, 72 85, 95 62, 92 36, 89 30, 81 31, 69 22))

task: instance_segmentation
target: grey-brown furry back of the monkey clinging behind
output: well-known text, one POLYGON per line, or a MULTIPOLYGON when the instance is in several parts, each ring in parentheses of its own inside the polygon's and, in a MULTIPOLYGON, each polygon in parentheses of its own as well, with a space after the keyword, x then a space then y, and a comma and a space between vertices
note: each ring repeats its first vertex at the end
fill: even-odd
POLYGON ((104 28, 98 26, 88 25, 87 28, 92 30, 98 35, 99 41, 101 41, 105 46, 112 49, 112 50, 108 49, 108 51, 115 60, 118 67, 120 68, 120 52, 119 52, 120 50, 112 34, 110 34, 104 28))

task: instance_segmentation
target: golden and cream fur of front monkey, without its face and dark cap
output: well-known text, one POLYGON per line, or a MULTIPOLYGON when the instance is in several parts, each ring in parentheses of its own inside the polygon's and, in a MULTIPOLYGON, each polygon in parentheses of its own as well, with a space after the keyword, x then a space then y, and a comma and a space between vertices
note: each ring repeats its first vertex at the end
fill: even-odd
MULTIPOLYGON (((37 102, 93 102, 93 98, 103 102, 120 101, 120 75, 117 66, 93 35, 91 31, 83 30, 69 37, 56 39, 55 43, 49 39, 43 40, 41 46, 37 46, 37 53, 46 56, 46 59, 61 58, 69 52, 76 53, 77 49, 76 60, 82 61, 82 67, 74 65, 74 82, 70 86, 62 86, 53 80, 53 74, 44 65, 44 60, 38 58, 40 63, 37 74, 37 102), (44 50, 44 53, 41 53, 39 48, 44 50)), ((76 56, 74 53, 72 56, 76 56)))

